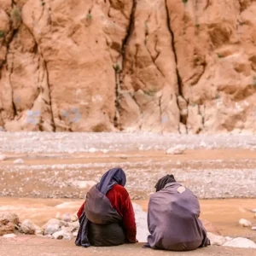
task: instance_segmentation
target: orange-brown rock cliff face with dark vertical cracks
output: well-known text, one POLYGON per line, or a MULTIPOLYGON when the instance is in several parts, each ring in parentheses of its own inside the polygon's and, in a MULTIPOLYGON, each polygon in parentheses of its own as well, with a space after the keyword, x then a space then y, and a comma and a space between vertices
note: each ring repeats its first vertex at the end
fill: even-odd
POLYGON ((256 131, 256 1, 0 0, 6 131, 256 131))

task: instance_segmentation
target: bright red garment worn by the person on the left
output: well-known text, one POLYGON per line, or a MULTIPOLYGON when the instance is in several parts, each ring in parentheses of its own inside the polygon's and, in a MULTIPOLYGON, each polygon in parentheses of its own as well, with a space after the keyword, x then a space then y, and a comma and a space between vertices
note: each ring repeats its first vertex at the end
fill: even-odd
MULTIPOLYGON (((119 184, 113 186, 106 195, 111 202, 113 208, 119 212, 123 218, 123 227, 125 229, 125 235, 131 242, 136 242, 136 223, 133 207, 131 204, 130 196, 126 189, 119 184)), ((80 207, 78 217, 84 212, 84 204, 80 207)))

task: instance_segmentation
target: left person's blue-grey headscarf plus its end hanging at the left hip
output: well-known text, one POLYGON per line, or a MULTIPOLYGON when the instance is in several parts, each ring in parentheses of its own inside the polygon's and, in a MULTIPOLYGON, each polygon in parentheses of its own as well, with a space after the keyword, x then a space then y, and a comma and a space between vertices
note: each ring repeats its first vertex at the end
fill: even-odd
MULTIPOLYGON (((125 172, 121 168, 113 168, 102 176, 101 181, 96 184, 96 189, 103 195, 107 195, 108 191, 112 189, 115 184, 125 187, 125 183, 125 172)), ((88 239, 89 224, 90 220, 86 217, 85 212, 83 212, 79 218, 79 233, 75 241, 77 246, 90 247, 90 241, 88 239)))

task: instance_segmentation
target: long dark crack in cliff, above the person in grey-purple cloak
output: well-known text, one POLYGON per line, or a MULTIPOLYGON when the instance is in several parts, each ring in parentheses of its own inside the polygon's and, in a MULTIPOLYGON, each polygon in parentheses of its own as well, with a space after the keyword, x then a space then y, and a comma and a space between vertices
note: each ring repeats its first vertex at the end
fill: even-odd
MULTIPOLYGON (((172 51, 173 51, 173 55, 174 55, 174 60, 175 60, 175 66, 176 66, 176 74, 177 74, 177 92, 179 96, 183 97, 183 82, 181 79, 181 76, 178 72, 178 68, 177 68, 177 53, 176 53, 176 48, 175 48, 175 39, 174 39, 174 33, 172 32, 172 27, 171 27, 171 19, 170 19, 170 14, 169 14, 169 9, 168 9, 168 4, 167 4, 167 0, 166 1, 166 16, 167 16, 167 27, 169 32, 171 33, 172 36, 172 51)), ((184 99, 184 97, 183 97, 184 99)), ((184 99, 185 100, 185 99, 184 99)), ((177 106, 178 106, 178 102, 177 102, 177 106)), ((179 109, 179 119, 180 119, 180 123, 183 123, 183 125, 186 125, 186 130, 188 133, 188 127, 186 122, 184 123, 182 120, 182 115, 181 115, 181 109, 179 109)), ((180 130, 178 129, 178 131, 180 132, 180 130)))

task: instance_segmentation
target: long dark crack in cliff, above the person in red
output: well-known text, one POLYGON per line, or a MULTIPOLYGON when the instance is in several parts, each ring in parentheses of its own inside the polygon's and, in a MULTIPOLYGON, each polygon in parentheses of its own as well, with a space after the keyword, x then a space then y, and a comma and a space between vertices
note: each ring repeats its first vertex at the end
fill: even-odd
POLYGON ((124 68, 125 65, 125 46, 128 43, 128 40, 131 36, 131 32, 133 30, 133 23, 134 23, 134 13, 136 9, 137 0, 132 0, 132 8, 131 8, 131 14, 130 14, 130 22, 129 26, 127 27, 126 35, 122 43, 121 47, 121 57, 122 57, 122 65, 121 68, 118 66, 118 64, 115 65, 115 115, 113 119, 113 125, 116 128, 119 128, 119 91, 120 91, 120 74, 124 68))

